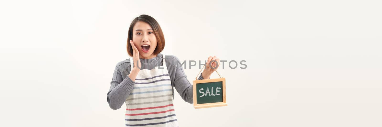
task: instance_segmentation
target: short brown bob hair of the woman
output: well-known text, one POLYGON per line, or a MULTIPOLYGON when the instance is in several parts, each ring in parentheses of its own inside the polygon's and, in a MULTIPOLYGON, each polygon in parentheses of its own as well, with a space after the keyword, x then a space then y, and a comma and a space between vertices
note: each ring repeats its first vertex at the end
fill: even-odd
POLYGON ((155 47, 154 54, 157 55, 161 51, 163 51, 163 48, 165 48, 165 37, 163 35, 162 29, 160 28, 158 22, 152 18, 151 16, 148 16, 146 14, 142 14, 135 18, 129 27, 129 32, 127 35, 127 53, 129 56, 133 56, 133 47, 131 47, 130 40, 133 40, 133 27, 138 21, 143 21, 147 24, 149 24, 154 31, 155 38, 157 39, 157 47, 155 47))

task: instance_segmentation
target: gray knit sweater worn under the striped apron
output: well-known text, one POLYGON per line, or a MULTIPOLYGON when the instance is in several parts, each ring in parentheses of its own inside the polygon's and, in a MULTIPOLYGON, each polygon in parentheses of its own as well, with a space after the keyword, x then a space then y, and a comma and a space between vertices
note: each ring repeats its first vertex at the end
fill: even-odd
MULTIPOLYGON (((153 69, 155 66, 163 65, 162 53, 151 59, 139 58, 142 69, 153 69)), ((193 103, 192 84, 187 80, 184 69, 179 59, 173 55, 165 55, 168 74, 170 75, 172 85, 172 97, 174 98, 174 87, 179 95, 188 103, 193 103)), ((110 89, 107 92, 107 103, 110 108, 117 110, 121 108, 126 98, 130 94, 135 82, 129 78, 131 67, 130 59, 126 59, 117 63, 114 69, 113 79, 110 82, 110 89)), ((202 75, 198 80, 203 79, 202 75)))

